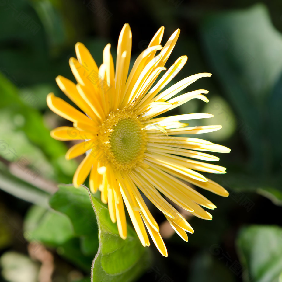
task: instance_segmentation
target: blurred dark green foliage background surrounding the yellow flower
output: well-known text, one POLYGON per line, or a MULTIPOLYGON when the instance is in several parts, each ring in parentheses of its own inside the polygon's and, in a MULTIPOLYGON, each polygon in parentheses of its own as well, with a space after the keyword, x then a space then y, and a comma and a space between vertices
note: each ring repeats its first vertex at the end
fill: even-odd
MULTIPOLYGON (((0 281, 90 281, 96 219, 87 195, 51 196, 58 183, 72 182, 80 159, 66 161, 72 143, 50 137, 51 129, 68 124, 48 109, 46 96, 69 101, 55 78, 74 81, 68 60, 76 42, 98 65, 110 42, 115 61, 124 23, 132 30, 131 63, 163 25, 162 44, 181 29, 166 67, 188 56, 173 82, 212 73, 185 89, 207 89, 210 102, 191 100, 174 113, 212 113, 190 125, 223 126, 197 138, 231 148, 216 154, 227 174, 209 176, 230 196, 195 188, 218 208, 212 221, 185 214, 195 230, 188 242, 150 206, 168 258, 151 244, 127 278, 112 273, 102 280, 103 273, 101 281, 282 281, 281 1, 1 0, 0 7, 0 281), (83 228, 78 214, 94 228, 83 228)), ((110 269, 119 264, 111 263, 110 269)))

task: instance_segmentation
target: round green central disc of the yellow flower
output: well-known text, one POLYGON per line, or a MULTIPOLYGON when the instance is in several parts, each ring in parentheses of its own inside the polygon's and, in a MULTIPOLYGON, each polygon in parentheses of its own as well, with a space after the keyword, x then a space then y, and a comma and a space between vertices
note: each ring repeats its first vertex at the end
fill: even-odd
POLYGON ((127 118, 120 120, 110 135, 111 151, 120 163, 135 160, 142 151, 144 135, 138 121, 127 118))

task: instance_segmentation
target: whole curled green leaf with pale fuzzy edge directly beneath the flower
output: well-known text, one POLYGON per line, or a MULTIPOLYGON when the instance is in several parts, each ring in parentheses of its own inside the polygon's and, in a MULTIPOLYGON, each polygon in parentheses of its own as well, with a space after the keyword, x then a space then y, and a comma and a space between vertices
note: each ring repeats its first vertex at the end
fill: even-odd
MULTIPOLYGON (((143 263, 148 253, 141 245, 136 232, 128 226, 127 239, 120 238, 117 225, 110 220, 108 208, 92 196, 86 187, 60 185, 59 190, 50 198, 50 206, 66 214, 74 227, 75 235, 80 237, 80 246, 85 254, 83 265, 87 266, 88 257, 97 252, 99 223, 99 249, 92 264, 94 281, 132 281, 143 271, 143 263), (89 199, 90 197, 90 199, 89 199), (93 211, 94 209, 94 211, 93 211), (95 218, 96 214, 96 218, 95 218)), ((75 239, 75 238, 74 238, 75 239)), ((68 259, 76 260, 78 253, 71 255, 77 242, 71 239, 60 246, 58 252, 68 259)))

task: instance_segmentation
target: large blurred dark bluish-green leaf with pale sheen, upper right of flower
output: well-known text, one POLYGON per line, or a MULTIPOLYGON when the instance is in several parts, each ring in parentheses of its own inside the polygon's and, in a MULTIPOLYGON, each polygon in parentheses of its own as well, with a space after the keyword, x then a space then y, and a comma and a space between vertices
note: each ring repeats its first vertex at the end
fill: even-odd
MULTIPOLYGON (((256 191, 281 204, 282 131, 277 129, 282 126, 282 35, 259 4, 208 16, 201 36, 212 72, 235 109, 236 130, 247 146, 233 158, 241 172, 227 175, 225 186, 256 191)), ((227 113, 228 107, 222 111, 227 113)))

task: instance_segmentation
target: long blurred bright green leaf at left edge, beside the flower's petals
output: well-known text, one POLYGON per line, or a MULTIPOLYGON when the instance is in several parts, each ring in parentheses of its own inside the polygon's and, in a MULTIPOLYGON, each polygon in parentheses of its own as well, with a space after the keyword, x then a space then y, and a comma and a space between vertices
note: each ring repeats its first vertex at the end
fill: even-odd
POLYGON ((2 157, 12 162, 24 156, 33 166, 40 168, 41 176, 70 182, 76 162, 64 159, 66 146, 51 138, 50 130, 46 128, 40 112, 24 104, 22 99, 25 98, 20 98, 18 89, 1 74, 0 92, 1 139, 6 143, 5 148, 1 145, 2 157), (15 151, 16 157, 9 150, 15 151), (68 167, 67 175, 65 167, 68 167))

